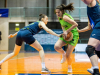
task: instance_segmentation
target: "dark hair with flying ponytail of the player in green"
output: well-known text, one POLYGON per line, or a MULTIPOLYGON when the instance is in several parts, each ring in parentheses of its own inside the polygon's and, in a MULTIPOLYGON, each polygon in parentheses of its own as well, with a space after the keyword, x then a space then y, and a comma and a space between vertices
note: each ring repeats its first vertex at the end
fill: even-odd
POLYGON ((74 10, 74 6, 73 6, 73 3, 70 3, 67 6, 64 4, 61 4, 60 6, 57 6, 56 9, 59 9, 64 12, 65 12, 65 10, 68 10, 70 12, 70 11, 74 10))

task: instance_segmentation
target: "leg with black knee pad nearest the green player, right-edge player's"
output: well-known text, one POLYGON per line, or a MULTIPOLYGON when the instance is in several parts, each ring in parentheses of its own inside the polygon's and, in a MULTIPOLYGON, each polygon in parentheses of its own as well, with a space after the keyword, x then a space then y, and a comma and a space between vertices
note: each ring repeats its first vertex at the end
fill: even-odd
POLYGON ((86 48, 86 53, 90 58, 91 64, 93 66, 93 73, 94 74, 99 74, 99 67, 98 67, 98 57, 95 52, 95 49, 99 45, 99 40, 95 38, 90 38, 88 42, 88 46, 86 48))

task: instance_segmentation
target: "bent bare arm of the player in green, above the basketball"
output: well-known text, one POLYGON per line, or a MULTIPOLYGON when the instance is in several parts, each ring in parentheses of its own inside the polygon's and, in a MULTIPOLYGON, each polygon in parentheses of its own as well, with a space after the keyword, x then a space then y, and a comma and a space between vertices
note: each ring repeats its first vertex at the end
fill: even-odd
POLYGON ((72 26, 68 30, 66 30, 67 33, 70 32, 72 29, 74 29, 75 27, 78 26, 78 24, 74 20, 70 19, 66 15, 63 17, 63 20, 68 22, 68 23, 70 23, 70 24, 72 24, 72 26))

